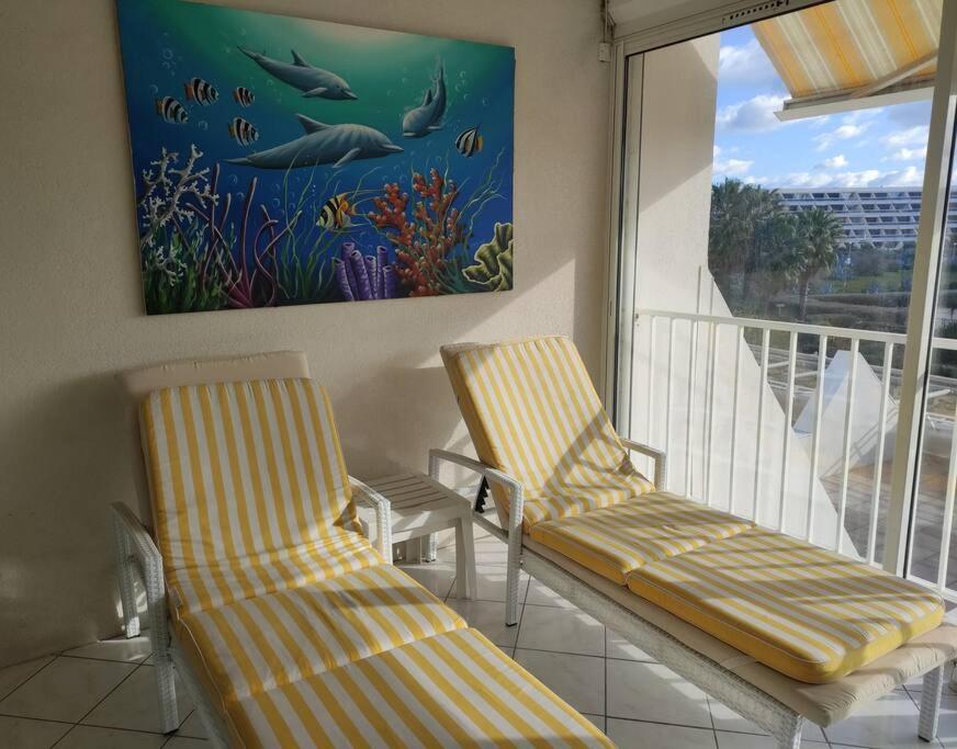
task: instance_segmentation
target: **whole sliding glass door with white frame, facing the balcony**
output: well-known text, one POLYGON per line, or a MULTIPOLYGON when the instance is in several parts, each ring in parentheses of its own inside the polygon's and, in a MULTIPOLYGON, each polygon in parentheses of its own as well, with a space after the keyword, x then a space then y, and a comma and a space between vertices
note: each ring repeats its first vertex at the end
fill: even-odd
POLYGON ((945 4, 833 0, 620 45, 608 396, 667 450, 668 489, 949 592, 945 4))

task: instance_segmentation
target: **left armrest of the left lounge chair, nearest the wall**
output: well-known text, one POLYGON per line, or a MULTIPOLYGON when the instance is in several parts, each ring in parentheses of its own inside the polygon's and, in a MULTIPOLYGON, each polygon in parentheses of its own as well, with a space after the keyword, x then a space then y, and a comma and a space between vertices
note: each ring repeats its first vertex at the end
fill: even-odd
MULTIPOLYGON (((123 502, 110 506, 113 532, 120 554, 121 586, 139 577, 146 589, 146 609, 149 616, 149 637, 154 651, 164 657, 169 647, 167 627, 166 581, 162 577, 162 556, 139 519, 123 502)), ((127 598, 124 605, 128 602, 127 598)), ((125 612, 127 619, 132 612, 125 612)))

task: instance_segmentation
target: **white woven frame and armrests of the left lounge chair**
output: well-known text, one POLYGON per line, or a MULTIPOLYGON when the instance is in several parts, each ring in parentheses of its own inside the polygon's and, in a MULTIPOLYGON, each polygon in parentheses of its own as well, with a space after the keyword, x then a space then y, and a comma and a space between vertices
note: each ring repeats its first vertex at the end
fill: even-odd
MULTIPOLYGON (((386 560, 392 559, 392 517, 389 500, 357 478, 349 477, 357 501, 364 501, 375 509, 376 547, 386 560)), ((229 733, 214 701, 193 671, 176 636, 169 626, 169 610, 166 599, 166 581, 162 577, 162 556, 149 532, 133 511, 123 502, 111 506, 113 534, 116 547, 116 565, 120 574, 120 600, 126 637, 136 637, 140 632, 136 602, 136 581, 146 591, 146 619, 149 642, 153 646, 154 672, 159 693, 160 726, 165 734, 180 727, 181 717, 177 707, 174 672, 200 713, 209 739, 214 747, 229 747, 229 733)))

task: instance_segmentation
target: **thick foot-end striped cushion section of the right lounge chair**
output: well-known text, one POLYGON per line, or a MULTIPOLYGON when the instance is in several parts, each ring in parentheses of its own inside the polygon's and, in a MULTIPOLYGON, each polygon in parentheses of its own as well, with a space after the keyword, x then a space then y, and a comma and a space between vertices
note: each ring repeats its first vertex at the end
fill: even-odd
POLYGON ((941 598, 916 583, 761 529, 640 567, 628 587, 810 683, 840 679, 944 614, 941 598))

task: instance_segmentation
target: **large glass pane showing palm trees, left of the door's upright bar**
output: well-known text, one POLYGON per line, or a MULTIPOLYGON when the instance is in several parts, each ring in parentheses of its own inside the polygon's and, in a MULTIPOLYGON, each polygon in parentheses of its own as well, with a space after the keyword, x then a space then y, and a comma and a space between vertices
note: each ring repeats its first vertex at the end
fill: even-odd
MULTIPOLYGON (((668 489, 879 561, 935 71, 857 95, 908 65, 874 57, 901 33, 876 5, 632 67, 631 428, 667 450, 668 489)), ((941 3, 900 9, 909 54, 936 49, 941 3)))

